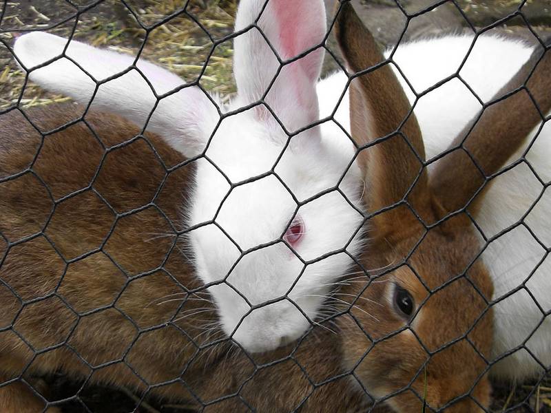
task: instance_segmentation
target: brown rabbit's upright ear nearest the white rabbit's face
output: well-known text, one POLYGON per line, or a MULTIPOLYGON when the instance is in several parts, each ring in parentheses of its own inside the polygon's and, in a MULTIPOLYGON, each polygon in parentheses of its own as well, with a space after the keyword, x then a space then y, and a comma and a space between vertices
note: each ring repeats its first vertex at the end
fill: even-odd
MULTIPOLYGON (((366 191, 368 211, 389 207, 406 195, 417 209, 417 200, 426 192, 419 191, 426 189, 425 154, 408 98, 390 64, 369 70, 385 59, 350 3, 341 3, 335 36, 351 71, 361 73, 354 75, 350 85, 351 135, 360 149, 365 148, 358 154, 358 162, 370 186, 366 191), (415 191, 408 194, 417 178, 415 191)), ((395 220, 397 216, 392 215, 387 216, 395 220)))

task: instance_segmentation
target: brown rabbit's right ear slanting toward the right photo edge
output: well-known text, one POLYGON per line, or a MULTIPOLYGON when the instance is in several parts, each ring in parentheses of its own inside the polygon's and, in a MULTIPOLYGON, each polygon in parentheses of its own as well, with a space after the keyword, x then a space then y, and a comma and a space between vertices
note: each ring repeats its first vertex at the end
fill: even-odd
POLYGON ((439 160, 430 176, 431 188, 446 213, 465 207, 486 177, 499 171, 548 114, 550 74, 551 51, 543 56, 541 49, 534 51, 493 100, 509 96, 486 107, 474 127, 470 123, 455 138, 450 149, 457 149, 439 160))

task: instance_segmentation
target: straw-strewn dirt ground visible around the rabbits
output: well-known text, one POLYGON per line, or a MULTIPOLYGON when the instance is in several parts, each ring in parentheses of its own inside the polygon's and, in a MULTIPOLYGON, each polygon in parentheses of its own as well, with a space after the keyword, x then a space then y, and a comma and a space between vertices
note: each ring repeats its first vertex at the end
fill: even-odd
MULTIPOLYGON (((325 0, 332 10, 335 0, 325 0)), ((92 0, 72 1, 76 6, 90 6, 92 0)), ((355 6, 366 25, 380 43, 387 47, 397 44, 407 30, 404 41, 443 32, 479 30, 492 25, 517 10, 519 0, 455 0, 437 8, 436 0, 355 0, 355 6), (426 12, 421 13, 426 10, 426 12)), ((47 105, 67 100, 65 96, 48 94, 34 85, 22 86, 25 75, 14 63, 9 47, 14 34, 26 30, 48 30, 67 36, 76 25, 74 38, 101 47, 135 54, 145 39, 144 25, 156 23, 175 10, 184 0, 132 0, 126 8, 121 1, 106 0, 90 8, 76 19, 76 8, 65 0, 4 0, 0 3, 0 113, 19 104, 21 107, 47 105), (136 20, 137 19, 137 20, 136 20)), ((232 30, 236 0, 191 0, 187 11, 207 28, 214 39, 232 30)), ((542 39, 551 37, 551 0, 528 0, 522 8, 523 16, 500 23, 495 30, 535 41, 527 23, 542 39)), ((205 62, 211 42, 194 19, 185 14, 167 21, 154 30, 143 49, 143 56, 165 65, 186 81, 194 80, 205 62)), ((331 39, 329 48, 336 52, 331 39)), ((207 67, 202 85, 223 96, 235 90, 231 78, 231 43, 217 47, 207 67)), ((335 67, 327 59, 325 70, 335 67)), ((47 377, 51 399, 67 401, 63 413, 76 412, 187 412, 185 406, 163 405, 149 400, 136 407, 140 396, 127 390, 119 391, 67 380, 61 375, 47 377)), ((551 377, 539 382, 522 383, 512 387, 495 383, 495 403, 492 412, 551 412, 551 377)))

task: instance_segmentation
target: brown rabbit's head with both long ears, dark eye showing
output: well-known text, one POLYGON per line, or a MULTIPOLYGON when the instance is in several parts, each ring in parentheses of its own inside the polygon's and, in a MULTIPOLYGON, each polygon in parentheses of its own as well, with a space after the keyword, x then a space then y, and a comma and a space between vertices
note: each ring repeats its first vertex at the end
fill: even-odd
MULTIPOLYGON (((359 276, 336 295, 349 305, 341 322, 344 363, 376 403, 397 412, 483 411, 491 393, 493 286, 478 259, 484 242, 471 212, 487 177, 541 116, 519 89, 487 107, 429 176, 408 100, 350 3, 341 3, 335 30, 352 73, 351 136, 366 176, 369 238, 359 276), (503 113, 517 115, 503 120, 503 113)), ((526 81, 534 63, 505 92, 526 81)), ((539 65, 534 76, 545 70, 539 65)))

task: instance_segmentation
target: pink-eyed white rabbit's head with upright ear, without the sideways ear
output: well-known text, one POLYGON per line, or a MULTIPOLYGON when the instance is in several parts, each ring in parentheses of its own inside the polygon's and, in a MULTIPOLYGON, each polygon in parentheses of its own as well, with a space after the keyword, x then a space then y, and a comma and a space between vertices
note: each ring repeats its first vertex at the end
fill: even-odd
POLYGON ((220 170, 200 162, 190 224, 216 224, 192 231, 191 245, 203 281, 225 280, 209 288, 225 331, 260 351, 300 337, 329 284, 346 273, 351 259, 343 251, 357 252, 362 223, 349 204, 360 205, 360 179, 351 169, 342 180, 352 160, 350 146, 339 142, 346 136, 322 137, 319 126, 311 127, 319 118, 323 2, 272 0, 264 8, 264 1, 242 0, 241 30, 238 96, 206 151, 233 188, 220 170), (274 50, 283 62, 311 51, 280 65, 274 50))

